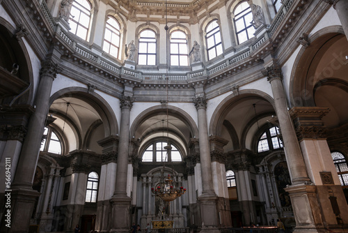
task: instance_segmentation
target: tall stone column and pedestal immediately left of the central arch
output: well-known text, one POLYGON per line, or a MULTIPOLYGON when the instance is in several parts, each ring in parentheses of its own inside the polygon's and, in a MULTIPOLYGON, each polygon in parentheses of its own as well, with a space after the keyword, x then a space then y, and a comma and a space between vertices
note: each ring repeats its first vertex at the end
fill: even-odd
POLYGON ((130 96, 120 98, 121 122, 120 142, 118 144, 118 158, 116 169, 115 193, 112 203, 111 232, 128 232, 131 198, 127 196, 127 168, 129 153, 129 117, 134 100, 130 96))

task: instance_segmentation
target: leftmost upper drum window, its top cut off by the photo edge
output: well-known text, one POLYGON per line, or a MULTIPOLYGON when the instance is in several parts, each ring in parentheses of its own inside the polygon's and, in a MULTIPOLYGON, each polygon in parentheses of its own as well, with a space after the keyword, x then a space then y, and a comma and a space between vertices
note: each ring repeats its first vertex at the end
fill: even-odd
POLYGON ((70 33, 73 33, 75 36, 78 36, 78 37, 81 38, 82 40, 86 40, 86 41, 87 41, 87 40, 88 40, 89 33, 90 33, 90 24, 91 24, 91 21, 92 21, 92 10, 93 10, 93 5, 92 5, 92 3, 90 3, 90 1, 88 1, 88 0, 83 0, 83 1, 86 1, 86 2, 89 4, 90 9, 88 9, 88 8, 86 8, 86 7, 84 7, 84 6, 82 6, 82 5, 81 5, 79 2, 77 2, 76 0, 72 1, 72 8, 74 7, 74 8, 76 8, 77 10, 79 10, 79 20, 78 20, 78 21, 77 21, 77 20, 74 20, 74 17, 76 17, 76 15, 75 15, 74 17, 72 17, 72 14, 71 14, 72 8, 70 8, 69 24, 71 24, 71 23, 73 22, 73 23, 76 24, 77 26, 76 26, 74 32, 72 31, 72 27, 70 27, 70 30, 69 30, 69 31, 70 31, 70 33), (77 5, 78 5, 79 7, 77 7, 77 5), (89 15, 86 14, 85 11, 88 12, 89 15), (83 24, 81 24, 81 22, 80 22, 81 13, 84 13, 84 14, 89 18, 89 20, 88 20, 88 27, 86 27, 86 26, 84 26, 83 24), (83 28, 83 29, 86 29, 86 36, 85 36, 85 38, 82 38, 81 36, 77 35, 77 31, 79 30, 79 27, 81 27, 81 28, 83 28))

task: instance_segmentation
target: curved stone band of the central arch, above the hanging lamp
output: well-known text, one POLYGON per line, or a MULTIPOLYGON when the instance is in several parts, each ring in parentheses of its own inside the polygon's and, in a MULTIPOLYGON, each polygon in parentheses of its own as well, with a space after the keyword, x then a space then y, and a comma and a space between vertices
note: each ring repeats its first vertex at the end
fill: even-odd
MULTIPOLYGON (((141 125, 141 123, 146 121, 146 119, 153 116, 154 114, 164 112, 166 113, 166 109, 161 105, 150 107, 147 110, 141 112, 132 123, 132 126, 130 128, 130 135, 135 135, 136 129, 141 125)), ((189 126, 189 131, 192 137, 198 137, 198 128, 196 122, 193 121, 192 117, 187 112, 184 112, 184 110, 181 110, 179 107, 168 105, 168 114, 182 120, 187 126, 189 126)))

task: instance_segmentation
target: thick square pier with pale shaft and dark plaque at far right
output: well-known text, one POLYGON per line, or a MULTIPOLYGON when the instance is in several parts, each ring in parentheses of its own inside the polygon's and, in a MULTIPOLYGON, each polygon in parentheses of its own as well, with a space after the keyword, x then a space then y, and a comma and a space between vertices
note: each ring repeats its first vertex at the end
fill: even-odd
MULTIPOLYGON (((311 211, 308 211, 308 214, 312 216, 309 219, 313 220, 309 224, 318 231, 323 227, 334 230, 344 225, 348 226, 348 206, 326 142, 326 128, 322 122, 322 117, 328 112, 327 107, 293 107, 290 110, 308 175, 315 184, 310 188, 316 195, 308 195, 308 201, 312 199, 312 202, 309 202, 311 211)), ((287 191, 290 197, 298 198, 298 193, 292 188, 287 191)), ((296 211, 303 212, 301 206, 295 208, 296 211)), ((299 220, 303 221, 302 218, 299 220)))

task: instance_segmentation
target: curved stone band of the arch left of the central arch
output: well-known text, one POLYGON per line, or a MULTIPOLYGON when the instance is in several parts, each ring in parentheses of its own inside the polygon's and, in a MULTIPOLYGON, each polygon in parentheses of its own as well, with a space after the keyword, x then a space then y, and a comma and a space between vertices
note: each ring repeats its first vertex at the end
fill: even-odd
POLYGON ((116 135, 118 133, 118 123, 115 114, 109 103, 99 96, 97 93, 88 93, 88 89, 82 87, 68 87, 61 89, 54 93, 51 98, 49 98, 49 105, 51 106, 54 100, 61 97, 75 97, 80 100, 86 101, 92 105, 95 110, 100 114, 100 117, 104 126, 105 137, 109 135, 116 135))

